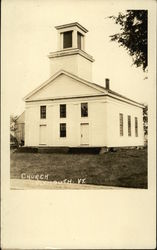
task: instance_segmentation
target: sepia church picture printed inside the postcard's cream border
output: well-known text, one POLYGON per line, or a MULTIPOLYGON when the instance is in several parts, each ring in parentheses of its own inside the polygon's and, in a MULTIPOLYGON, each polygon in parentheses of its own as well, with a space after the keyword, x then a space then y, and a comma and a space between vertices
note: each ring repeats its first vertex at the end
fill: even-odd
MULTIPOLYGON (((42 82, 33 54, 32 72, 16 80, 20 93, 12 99, 10 114, 11 188, 147 188, 148 11, 66 19, 52 16, 42 26, 33 19, 19 27, 29 28, 23 39, 33 45, 39 35, 51 41, 40 39, 37 48, 31 46, 36 53, 50 50, 50 72, 42 82)), ((26 44, 13 46, 23 50, 26 44)), ((20 68, 24 61, 30 67, 29 50, 28 43, 20 68)), ((40 54, 42 60, 45 54, 40 54)))

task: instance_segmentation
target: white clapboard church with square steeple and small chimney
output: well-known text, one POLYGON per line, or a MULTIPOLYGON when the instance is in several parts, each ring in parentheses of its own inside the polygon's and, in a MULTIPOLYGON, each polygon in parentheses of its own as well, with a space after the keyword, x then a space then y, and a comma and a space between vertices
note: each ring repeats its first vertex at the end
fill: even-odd
POLYGON ((143 146, 143 108, 92 82, 94 59, 85 52, 88 30, 79 23, 55 27, 58 50, 49 54, 50 78, 25 98, 25 146, 143 146))

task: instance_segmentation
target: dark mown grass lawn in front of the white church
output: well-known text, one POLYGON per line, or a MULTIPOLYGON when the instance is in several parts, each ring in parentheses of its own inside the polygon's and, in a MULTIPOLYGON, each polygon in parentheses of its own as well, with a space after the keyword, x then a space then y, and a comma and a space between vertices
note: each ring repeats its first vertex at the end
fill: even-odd
POLYGON ((49 174, 48 181, 84 179, 86 184, 147 188, 146 149, 91 154, 11 153, 12 179, 49 174))

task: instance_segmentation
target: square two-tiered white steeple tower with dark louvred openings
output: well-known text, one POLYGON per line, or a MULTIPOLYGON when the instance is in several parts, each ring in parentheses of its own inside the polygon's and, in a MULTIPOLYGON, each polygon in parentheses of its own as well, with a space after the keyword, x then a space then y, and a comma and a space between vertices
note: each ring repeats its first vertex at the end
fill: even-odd
POLYGON ((50 74, 65 70, 91 81, 94 59, 84 51, 88 30, 77 22, 55 28, 58 31, 58 51, 49 54, 50 74))

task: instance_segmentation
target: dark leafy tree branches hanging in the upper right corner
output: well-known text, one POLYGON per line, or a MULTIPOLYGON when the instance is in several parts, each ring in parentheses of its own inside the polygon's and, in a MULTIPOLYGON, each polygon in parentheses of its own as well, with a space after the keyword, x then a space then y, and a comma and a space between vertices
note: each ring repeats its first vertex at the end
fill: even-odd
POLYGON ((118 17, 110 16, 116 24, 121 26, 120 33, 111 35, 111 41, 116 41, 123 46, 132 56, 133 64, 146 71, 147 58, 147 10, 127 10, 125 14, 119 13, 118 17))

